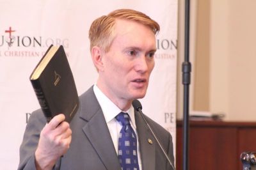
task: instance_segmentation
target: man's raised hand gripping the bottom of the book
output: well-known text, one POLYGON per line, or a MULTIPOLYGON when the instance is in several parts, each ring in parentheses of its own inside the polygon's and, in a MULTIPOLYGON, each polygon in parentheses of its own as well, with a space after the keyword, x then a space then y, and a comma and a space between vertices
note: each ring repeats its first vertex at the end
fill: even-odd
POLYGON ((72 132, 64 120, 64 114, 58 114, 42 129, 35 152, 36 169, 52 169, 57 159, 67 152, 72 132))

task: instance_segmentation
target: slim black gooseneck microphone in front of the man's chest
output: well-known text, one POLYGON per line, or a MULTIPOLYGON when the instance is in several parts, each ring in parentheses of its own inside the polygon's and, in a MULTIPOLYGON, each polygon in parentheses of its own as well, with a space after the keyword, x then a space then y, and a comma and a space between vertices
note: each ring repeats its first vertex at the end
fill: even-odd
POLYGON ((133 101, 132 101, 132 107, 133 107, 136 111, 140 112, 141 117, 143 118, 143 120, 144 120, 145 123, 147 124, 147 127, 150 129, 150 132, 152 133, 152 135, 153 135, 154 138, 156 139, 157 144, 160 146, 161 150, 163 151, 164 156, 165 156, 166 159, 168 160, 170 166, 171 166, 173 169, 175 169, 175 167, 173 166, 173 164, 172 164, 170 158, 168 157, 168 155, 167 155, 166 152, 164 151, 163 146, 161 145, 161 143, 160 143, 159 140, 157 139, 157 137, 156 137, 154 131, 152 130, 152 128, 150 127, 150 125, 148 125, 148 121, 147 121, 147 120, 145 119, 145 117, 143 116, 143 112, 141 111, 141 110, 142 110, 142 105, 141 105, 140 101, 139 101, 139 100, 133 100, 133 101))

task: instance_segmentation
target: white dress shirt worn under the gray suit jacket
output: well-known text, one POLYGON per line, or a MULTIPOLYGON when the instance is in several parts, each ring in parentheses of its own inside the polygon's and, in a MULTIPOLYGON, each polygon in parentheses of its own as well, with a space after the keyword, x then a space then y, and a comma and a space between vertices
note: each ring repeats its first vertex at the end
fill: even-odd
POLYGON ((122 128, 121 123, 119 123, 115 116, 117 116, 120 112, 127 112, 130 116, 130 123, 131 123, 131 127, 133 128, 134 132, 136 133, 137 136, 137 153, 138 153, 138 163, 139 163, 139 167, 141 169, 141 158, 140 158, 140 146, 139 146, 139 141, 138 141, 138 132, 136 130, 136 123, 135 123, 135 117, 134 117, 134 109, 131 106, 127 111, 121 111, 115 104, 113 104, 113 102, 111 102, 111 100, 109 100, 108 97, 106 97, 106 95, 104 95, 104 93, 102 93, 102 91, 100 91, 100 89, 97 87, 96 84, 94 84, 93 86, 93 91, 95 93, 95 96, 100 104, 100 107, 102 109, 102 112, 104 114, 106 123, 108 125, 108 129, 113 141, 113 144, 115 146, 115 150, 116 150, 116 155, 118 153, 118 135, 120 133, 120 130, 122 128))

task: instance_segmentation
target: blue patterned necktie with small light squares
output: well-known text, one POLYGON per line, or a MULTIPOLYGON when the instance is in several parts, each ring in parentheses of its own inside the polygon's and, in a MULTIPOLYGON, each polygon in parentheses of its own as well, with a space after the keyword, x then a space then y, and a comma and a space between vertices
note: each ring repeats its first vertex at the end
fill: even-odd
POLYGON ((116 120, 123 126, 118 139, 118 158, 122 170, 139 170, 137 138, 131 127, 129 116, 126 112, 120 112, 116 120))

